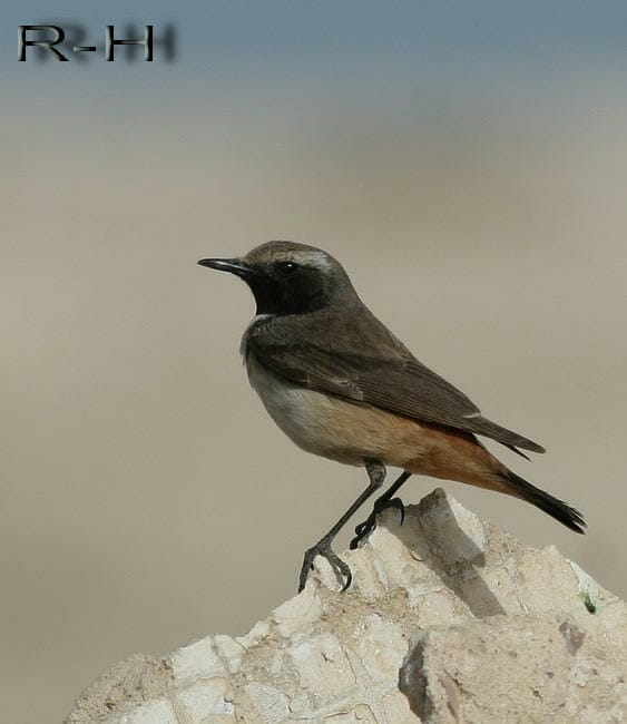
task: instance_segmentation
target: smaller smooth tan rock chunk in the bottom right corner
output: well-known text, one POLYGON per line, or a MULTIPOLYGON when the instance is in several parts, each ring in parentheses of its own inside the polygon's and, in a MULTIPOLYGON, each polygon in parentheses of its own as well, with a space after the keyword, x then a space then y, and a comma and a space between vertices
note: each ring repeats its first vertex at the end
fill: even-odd
POLYGON ((624 722, 627 714, 625 661, 564 612, 431 628, 405 658, 400 687, 422 722, 624 722))

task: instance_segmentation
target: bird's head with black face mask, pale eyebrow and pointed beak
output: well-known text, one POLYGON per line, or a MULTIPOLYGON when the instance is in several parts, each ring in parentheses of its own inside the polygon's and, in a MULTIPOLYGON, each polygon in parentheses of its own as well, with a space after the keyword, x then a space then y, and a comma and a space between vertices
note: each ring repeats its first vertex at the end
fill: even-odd
POLYGON ((238 258, 203 258, 198 264, 243 278, 257 314, 305 314, 356 299, 342 265, 306 244, 267 242, 238 258))

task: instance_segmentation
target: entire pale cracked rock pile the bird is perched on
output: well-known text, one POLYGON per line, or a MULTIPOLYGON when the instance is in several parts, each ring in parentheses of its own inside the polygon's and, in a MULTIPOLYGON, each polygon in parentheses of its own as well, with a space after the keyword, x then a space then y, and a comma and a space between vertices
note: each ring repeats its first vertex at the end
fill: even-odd
POLYGON ((627 607, 438 489, 245 636, 137 655, 68 724, 623 722, 627 607))

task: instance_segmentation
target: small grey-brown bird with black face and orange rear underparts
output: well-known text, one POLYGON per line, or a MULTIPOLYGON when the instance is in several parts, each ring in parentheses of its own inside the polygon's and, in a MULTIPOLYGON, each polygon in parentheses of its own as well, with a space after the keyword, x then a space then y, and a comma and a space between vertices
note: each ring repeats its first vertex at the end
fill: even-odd
POLYGON ((337 532, 384 483, 386 468, 399 478, 376 498, 355 528, 356 548, 388 507, 404 512, 395 497, 411 474, 464 482, 513 496, 585 532, 582 515, 499 461, 481 442, 489 438, 528 458, 542 453, 532 440, 483 417, 460 390, 420 362, 362 302, 346 271, 315 246, 272 241, 241 257, 198 264, 229 272, 251 288, 255 316, 242 337, 251 385, 278 428, 306 452, 365 469, 368 487, 322 538, 305 551, 298 591, 316 556, 342 581, 350 566, 332 548, 337 532))

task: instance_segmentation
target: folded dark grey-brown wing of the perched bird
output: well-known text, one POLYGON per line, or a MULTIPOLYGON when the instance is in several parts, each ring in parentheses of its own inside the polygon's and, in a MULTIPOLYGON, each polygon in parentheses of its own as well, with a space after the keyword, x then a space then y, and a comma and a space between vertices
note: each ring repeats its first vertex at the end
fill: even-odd
MULTIPOLYGON (((255 358, 277 374, 320 392, 398 414, 492 438, 508 448, 545 452, 537 442, 483 418, 479 408, 411 355, 373 355, 316 344, 249 341, 255 358)), ((515 450, 518 452, 517 450, 515 450)))

